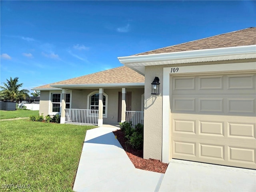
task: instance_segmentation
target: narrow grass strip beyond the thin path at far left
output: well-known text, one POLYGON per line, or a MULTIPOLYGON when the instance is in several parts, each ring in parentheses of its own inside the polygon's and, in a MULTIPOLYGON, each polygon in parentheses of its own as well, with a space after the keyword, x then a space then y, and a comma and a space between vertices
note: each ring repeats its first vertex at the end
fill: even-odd
POLYGON ((29 117, 30 115, 38 115, 39 110, 16 110, 16 111, 4 111, 0 110, 0 119, 13 119, 19 117, 29 117))

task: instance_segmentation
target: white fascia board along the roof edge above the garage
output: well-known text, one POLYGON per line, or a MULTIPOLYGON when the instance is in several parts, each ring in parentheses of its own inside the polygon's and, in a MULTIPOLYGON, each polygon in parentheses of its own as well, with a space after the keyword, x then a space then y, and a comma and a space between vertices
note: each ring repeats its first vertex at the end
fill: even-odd
POLYGON ((148 55, 138 55, 138 56, 126 56, 126 57, 118 57, 118 60, 124 65, 133 66, 132 63, 136 63, 136 66, 148 66, 148 65, 159 65, 160 63, 147 64, 145 62, 206 58, 206 57, 218 57, 218 56, 237 56, 239 54, 254 54, 254 58, 256 58, 256 45, 148 54, 148 55))

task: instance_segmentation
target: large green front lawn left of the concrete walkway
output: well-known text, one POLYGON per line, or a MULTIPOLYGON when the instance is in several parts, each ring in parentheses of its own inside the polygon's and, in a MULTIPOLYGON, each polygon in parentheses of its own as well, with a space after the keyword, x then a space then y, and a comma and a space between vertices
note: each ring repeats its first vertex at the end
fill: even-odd
POLYGON ((0 190, 71 192, 86 130, 92 128, 26 119, 1 121, 0 190))

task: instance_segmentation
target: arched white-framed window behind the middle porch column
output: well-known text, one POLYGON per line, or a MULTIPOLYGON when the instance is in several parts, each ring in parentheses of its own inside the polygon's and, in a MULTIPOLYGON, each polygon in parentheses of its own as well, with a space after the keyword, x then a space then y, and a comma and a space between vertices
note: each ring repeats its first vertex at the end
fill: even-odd
MULTIPOLYGON (((103 94, 103 117, 107 117, 107 107, 108 107, 108 95, 103 94)), ((87 107, 92 110, 98 110, 99 109, 99 92, 94 91, 88 94, 88 102, 87 107)))

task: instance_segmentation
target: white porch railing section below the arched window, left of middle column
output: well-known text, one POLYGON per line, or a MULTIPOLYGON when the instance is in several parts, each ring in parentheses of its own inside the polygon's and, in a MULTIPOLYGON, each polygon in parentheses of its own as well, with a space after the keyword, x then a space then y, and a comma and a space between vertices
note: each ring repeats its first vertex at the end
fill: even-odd
POLYGON ((98 125, 99 110, 65 109, 65 123, 98 125))

